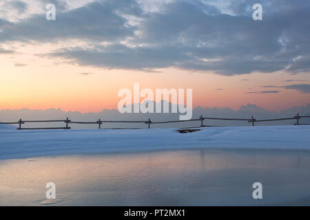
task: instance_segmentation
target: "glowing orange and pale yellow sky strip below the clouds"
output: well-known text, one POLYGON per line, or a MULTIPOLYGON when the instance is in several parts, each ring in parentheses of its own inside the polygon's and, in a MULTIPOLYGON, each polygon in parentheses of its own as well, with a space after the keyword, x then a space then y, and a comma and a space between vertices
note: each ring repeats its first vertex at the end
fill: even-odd
MULTIPOLYGON (((117 109, 118 101, 121 100, 117 96, 118 90, 132 90, 134 83, 140 83, 141 89, 152 89, 154 94, 156 88, 193 89, 193 107, 229 107, 236 110, 242 104, 251 103, 280 111, 310 102, 309 94, 300 94, 296 90, 261 87, 285 85, 282 81, 292 76, 284 72, 240 76, 220 76, 173 68, 141 72, 69 64, 46 65, 44 59, 29 59, 28 65, 16 67, 13 65, 17 62, 16 59, 0 56, 0 62, 4 63, 2 69, 5 69, 0 74, 0 109, 60 108, 63 111, 82 113, 117 109), (244 78, 247 80, 243 80, 244 78), (247 94, 262 90, 279 92, 247 94)), ((302 83, 310 83, 309 74, 299 74, 298 78, 304 79, 302 83)))

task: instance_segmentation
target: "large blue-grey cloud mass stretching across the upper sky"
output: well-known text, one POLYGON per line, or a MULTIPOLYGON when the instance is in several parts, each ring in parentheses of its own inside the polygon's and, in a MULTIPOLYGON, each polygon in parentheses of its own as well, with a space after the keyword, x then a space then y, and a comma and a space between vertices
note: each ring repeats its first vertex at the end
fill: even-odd
POLYGON ((48 55, 107 69, 177 67, 225 76, 310 72, 310 1, 260 1, 262 21, 251 18, 256 1, 229 3, 234 15, 199 0, 166 3, 158 12, 144 12, 134 0, 98 1, 60 12, 56 21, 45 15, 0 20, 0 41, 82 39, 90 45, 48 55), (124 15, 138 22, 130 25, 124 15), (102 41, 110 44, 103 47, 102 41))

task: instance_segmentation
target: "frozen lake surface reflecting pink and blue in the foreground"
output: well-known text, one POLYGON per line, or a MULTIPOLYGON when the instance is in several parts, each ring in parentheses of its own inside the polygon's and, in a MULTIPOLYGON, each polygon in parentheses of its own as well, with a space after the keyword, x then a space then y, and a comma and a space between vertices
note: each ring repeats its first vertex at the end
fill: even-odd
POLYGON ((204 149, 0 160, 0 205, 310 206, 310 151, 204 149), (252 184, 262 183, 262 199, 252 184), (45 184, 56 184, 46 199, 45 184))

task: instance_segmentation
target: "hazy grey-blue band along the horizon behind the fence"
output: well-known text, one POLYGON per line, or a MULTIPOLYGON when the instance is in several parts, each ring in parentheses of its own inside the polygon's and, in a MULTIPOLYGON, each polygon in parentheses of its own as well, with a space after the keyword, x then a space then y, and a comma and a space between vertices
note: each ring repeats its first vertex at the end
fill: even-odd
MULTIPOLYGON (((165 101, 163 101, 165 102, 165 101)), ((169 106, 171 107, 171 103, 169 106)), ((300 115, 310 115, 310 103, 306 106, 292 107, 290 109, 282 111, 269 111, 258 107, 256 104, 246 104, 242 105, 240 109, 233 110, 229 108, 202 108, 196 107, 193 110, 193 118, 199 118, 200 115, 204 117, 214 117, 214 118, 251 118, 253 115, 256 119, 268 119, 268 118, 291 118, 296 113, 300 115)), ((19 109, 19 110, 0 110, 0 121, 17 122, 19 118, 23 120, 52 120, 52 119, 65 119, 76 121, 96 121, 99 120, 148 120, 151 118, 152 121, 165 121, 165 120, 178 120, 178 113, 124 113, 121 114, 117 109, 104 109, 101 112, 90 112, 81 113, 79 111, 63 111, 61 109, 46 109, 46 110, 30 110, 30 109, 19 109)), ((260 122, 258 125, 273 125, 273 124, 293 124, 290 121, 279 121, 279 122, 260 122)), ((309 119, 303 119, 301 123, 310 123, 309 119)), ((187 127, 187 126, 199 126, 200 122, 180 122, 174 124, 152 124, 152 127, 187 127)), ((219 126, 249 126, 248 122, 238 122, 238 121, 218 121, 218 120, 205 120, 206 125, 219 125, 219 126)), ((59 126, 59 123, 54 124, 30 124, 25 126, 59 126)), ((96 128, 96 124, 79 125, 72 124, 72 128, 77 129, 92 129, 96 128)), ((111 124, 105 123, 103 127, 146 127, 145 124, 111 124)))

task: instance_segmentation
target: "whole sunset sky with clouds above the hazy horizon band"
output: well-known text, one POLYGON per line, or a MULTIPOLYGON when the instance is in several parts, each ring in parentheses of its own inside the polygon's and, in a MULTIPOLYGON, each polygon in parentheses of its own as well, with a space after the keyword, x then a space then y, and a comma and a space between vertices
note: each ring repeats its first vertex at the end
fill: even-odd
POLYGON ((310 103, 309 39, 307 0, 0 0, 0 109, 117 109, 134 83, 289 109, 310 103))

